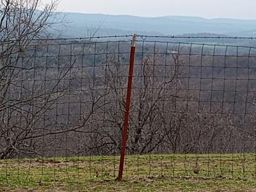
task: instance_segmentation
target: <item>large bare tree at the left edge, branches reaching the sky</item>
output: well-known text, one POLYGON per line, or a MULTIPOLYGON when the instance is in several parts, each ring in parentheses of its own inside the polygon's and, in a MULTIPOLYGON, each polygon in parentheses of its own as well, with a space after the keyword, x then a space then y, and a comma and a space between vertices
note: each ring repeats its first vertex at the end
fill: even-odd
MULTIPOLYGON (((72 70, 79 58, 63 59, 60 45, 51 46, 51 50, 50 42, 45 45, 42 40, 50 35, 48 29, 62 22, 56 20, 56 6, 57 1, 51 4, 42 4, 40 0, 1 1, 0 159, 40 155, 47 146, 63 141, 68 132, 87 132, 81 129, 102 105, 104 95, 90 96, 93 91, 89 86, 84 93, 93 97, 88 113, 67 123, 64 123, 67 115, 56 115, 55 111, 65 109, 62 103, 77 99, 70 96, 71 91, 81 92, 82 88, 82 84, 74 86, 73 80, 82 76, 72 70)), ((88 50, 84 46, 79 52, 88 50)), ((64 49, 67 55, 70 51, 72 47, 64 49)))

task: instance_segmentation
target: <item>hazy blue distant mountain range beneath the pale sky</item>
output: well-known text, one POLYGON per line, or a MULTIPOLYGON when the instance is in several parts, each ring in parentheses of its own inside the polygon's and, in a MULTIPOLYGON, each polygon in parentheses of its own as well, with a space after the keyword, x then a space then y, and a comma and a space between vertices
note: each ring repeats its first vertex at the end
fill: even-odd
POLYGON ((183 35, 212 33, 228 36, 256 36, 256 20, 204 19, 201 17, 136 17, 131 15, 104 15, 84 13, 59 13, 66 24, 57 29, 62 36, 78 37, 95 33, 100 35, 183 35))

